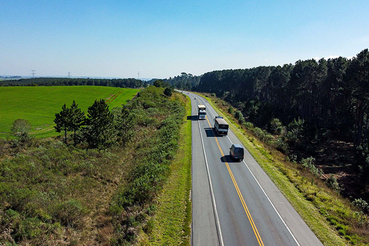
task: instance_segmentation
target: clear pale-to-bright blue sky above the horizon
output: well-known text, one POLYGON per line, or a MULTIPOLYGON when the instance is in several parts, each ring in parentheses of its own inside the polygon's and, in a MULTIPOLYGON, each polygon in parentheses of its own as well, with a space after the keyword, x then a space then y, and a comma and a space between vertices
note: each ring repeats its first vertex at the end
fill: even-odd
POLYGON ((369 1, 0 1, 0 74, 165 78, 351 57, 369 1))

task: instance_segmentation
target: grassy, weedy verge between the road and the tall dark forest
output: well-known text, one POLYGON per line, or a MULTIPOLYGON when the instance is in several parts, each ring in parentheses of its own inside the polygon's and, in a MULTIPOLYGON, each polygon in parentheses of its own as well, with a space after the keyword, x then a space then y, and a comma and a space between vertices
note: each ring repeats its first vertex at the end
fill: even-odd
POLYGON ((241 127, 227 112, 227 102, 209 94, 205 98, 230 123, 231 130, 325 246, 368 245, 369 221, 366 215, 301 165, 287 162, 285 155, 241 127))

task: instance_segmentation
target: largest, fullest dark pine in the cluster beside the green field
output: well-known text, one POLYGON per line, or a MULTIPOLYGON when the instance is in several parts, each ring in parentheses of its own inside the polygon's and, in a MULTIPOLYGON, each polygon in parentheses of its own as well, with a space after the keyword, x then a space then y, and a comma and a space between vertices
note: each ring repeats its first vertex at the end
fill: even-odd
POLYGON ((90 146, 101 149, 112 144, 114 115, 105 100, 95 100, 87 112, 86 139, 90 146))

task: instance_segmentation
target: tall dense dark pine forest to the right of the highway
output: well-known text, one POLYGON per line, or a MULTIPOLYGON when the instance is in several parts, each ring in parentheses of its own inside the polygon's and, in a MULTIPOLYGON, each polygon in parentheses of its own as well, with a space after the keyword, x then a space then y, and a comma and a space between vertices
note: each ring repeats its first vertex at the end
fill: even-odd
POLYGON ((360 186, 365 190, 369 184, 368 49, 351 60, 299 60, 208 72, 192 90, 230 102, 237 118, 279 135, 287 145, 281 149, 300 159, 343 143, 352 153, 350 169, 360 186))

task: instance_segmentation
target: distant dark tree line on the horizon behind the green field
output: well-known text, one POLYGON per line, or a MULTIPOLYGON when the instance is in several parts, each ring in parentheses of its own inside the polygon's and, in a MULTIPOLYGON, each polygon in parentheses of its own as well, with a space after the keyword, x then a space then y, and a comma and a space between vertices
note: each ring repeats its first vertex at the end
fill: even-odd
POLYGON ((122 88, 146 87, 138 79, 83 79, 83 78, 32 78, 0 81, 0 86, 110 86, 122 88))

